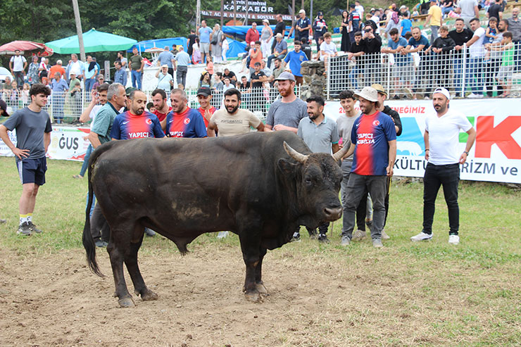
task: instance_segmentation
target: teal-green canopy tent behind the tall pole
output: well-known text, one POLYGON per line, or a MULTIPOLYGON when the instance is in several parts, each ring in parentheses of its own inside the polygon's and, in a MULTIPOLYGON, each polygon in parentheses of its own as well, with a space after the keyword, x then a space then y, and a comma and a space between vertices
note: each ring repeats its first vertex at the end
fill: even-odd
MULTIPOLYGON (((137 41, 134 39, 109 34, 108 32, 99 32, 94 28, 83 33, 85 53, 125 51, 132 47, 136 42, 137 41)), ((54 49, 56 53, 60 54, 80 53, 80 43, 77 35, 47 42, 46 45, 51 47, 51 49, 54 49)))

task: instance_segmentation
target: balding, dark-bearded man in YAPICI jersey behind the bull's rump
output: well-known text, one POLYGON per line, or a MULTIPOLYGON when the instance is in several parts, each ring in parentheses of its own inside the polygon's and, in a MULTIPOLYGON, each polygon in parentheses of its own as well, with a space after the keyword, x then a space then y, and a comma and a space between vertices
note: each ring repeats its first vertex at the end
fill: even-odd
POLYGON ((165 137, 158 117, 145 111, 146 95, 140 90, 130 93, 129 111, 117 115, 111 130, 113 140, 165 137))

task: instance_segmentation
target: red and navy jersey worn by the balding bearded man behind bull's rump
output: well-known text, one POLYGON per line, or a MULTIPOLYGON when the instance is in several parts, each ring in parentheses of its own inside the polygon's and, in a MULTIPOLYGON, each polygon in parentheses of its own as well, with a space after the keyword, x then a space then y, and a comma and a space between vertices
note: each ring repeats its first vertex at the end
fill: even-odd
POLYGON ((146 111, 142 115, 134 115, 127 111, 115 117, 111 138, 126 140, 144 137, 165 137, 157 115, 146 111))

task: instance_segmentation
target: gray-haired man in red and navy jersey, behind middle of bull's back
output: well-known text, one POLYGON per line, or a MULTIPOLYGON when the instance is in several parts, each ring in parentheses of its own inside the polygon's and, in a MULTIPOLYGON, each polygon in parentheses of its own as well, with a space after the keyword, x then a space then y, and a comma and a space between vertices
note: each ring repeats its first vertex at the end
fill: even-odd
POLYGON ((187 93, 182 89, 170 92, 172 111, 165 122, 165 134, 168 137, 208 137, 203 116, 199 111, 187 106, 187 93))

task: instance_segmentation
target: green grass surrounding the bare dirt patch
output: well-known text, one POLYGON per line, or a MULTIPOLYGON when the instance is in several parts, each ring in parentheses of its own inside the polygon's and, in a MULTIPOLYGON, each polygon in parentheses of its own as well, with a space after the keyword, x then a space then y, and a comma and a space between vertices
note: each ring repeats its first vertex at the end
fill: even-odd
MULTIPOLYGON (((87 180, 72 178, 81 163, 50 160, 48 166, 47 183, 39 192, 33 217, 44 234, 17 236, 20 181, 14 159, 0 157, 0 217, 8 220, 0 225, 0 251, 14 251, 22 257, 68 249, 82 251, 87 180)), ((345 262, 346 271, 350 267, 356 273, 363 271, 381 280, 375 285, 384 288, 388 283, 389 289, 382 292, 385 304, 365 313, 368 320, 381 319, 389 326, 402 327, 398 329, 418 327, 427 336, 425 341, 406 341, 396 337, 400 334, 383 332, 387 339, 368 336, 363 340, 365 344, 521 346, 521 192, 500 184, 462 182, 461 243, 451 246, 447 242, 448 218, 441 192, 433 241, 410 242, 410 236, 421 230, 422 188, 421 182, 400 182, 391 187, 386 227, 391 239, 384 242, 382 250, 373 249, 368 241, 353 243, 349 248, 339 246, 339 220, 334 222, 329 245, 303 236, 301 243, 285 245, 269 254, 276 259, 291 257, 310 266, 345 262)), ((217 241, 215 234, 199 237, 189 249, 215 246, 218 242, 237 253, 237 236, 217 241)), ((162 237, 146 238, 142 253, 159 257, 177 253, 177 248, 162 237)), ((362 342, 348 332, 334 337, 349 344, 362 342)))

